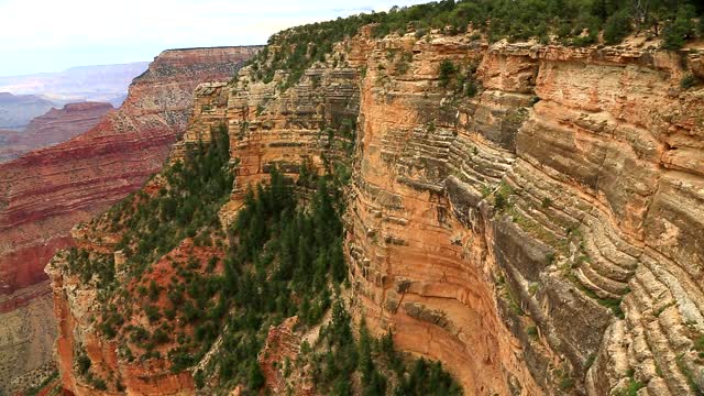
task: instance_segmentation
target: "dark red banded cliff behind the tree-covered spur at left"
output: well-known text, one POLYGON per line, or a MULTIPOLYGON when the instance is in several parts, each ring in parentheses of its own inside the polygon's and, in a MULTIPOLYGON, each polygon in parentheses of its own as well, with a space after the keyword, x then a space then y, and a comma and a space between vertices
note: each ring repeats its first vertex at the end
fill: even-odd
MULTIPOLYGON (((195 87, 230 78, 256 51, 166 51, 134 80, 121 109, 90 131, 0 165, 0 304, 15 308, 31 300, 23 290, 46 279, 44 265, 73 243, 70 228, 138 189, 160 169, 186 128, 195 87)), ((45 287, 36 290, 46 293, 45 287)), ((53 317, 47 310, 43 315, 53 317)), ((6 384, 23 372, 15 371, 16 356, 29 353, 6 353, 4 345, 1 352, 0 383, 6 384)), ((50 359, 43 353, 32 364, 50 359)))

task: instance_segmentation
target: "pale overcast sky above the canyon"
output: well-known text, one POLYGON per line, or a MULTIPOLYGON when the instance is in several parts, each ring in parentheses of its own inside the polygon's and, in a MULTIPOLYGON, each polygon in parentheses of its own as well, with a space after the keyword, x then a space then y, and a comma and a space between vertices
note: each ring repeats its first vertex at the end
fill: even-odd
POLYGON ((302 23, 424 0, 0 0, 0 76, 152 61, 164 50, 264 44, 302 23))

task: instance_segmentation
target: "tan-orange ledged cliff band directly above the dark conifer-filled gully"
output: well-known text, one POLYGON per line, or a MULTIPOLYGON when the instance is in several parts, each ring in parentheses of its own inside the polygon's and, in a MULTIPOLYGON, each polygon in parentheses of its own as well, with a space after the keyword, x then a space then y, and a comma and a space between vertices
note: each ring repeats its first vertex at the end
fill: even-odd
MULTIPOLYGON (((356 62, 350 59, 331 67, 332 62, 314 65, 286 90, 282 89, 286 74, 277 74, 264 84, 254 78, 251 67, 240 70, 234 85, 198 87, 195 120, 184 142, 209 141, 213 127, 228 125, 237 177, 233 199, 223 208, 226 220, 241 204, 248 186, 266 180, 272 166, 297 177, 304 162, 322 169, 326 154, 328 160, 334 160, 336 144, 344 144, 343 140, 353 143, 352 136, 337 136, 333 144, 327 130, 348 124, 353 132, 360 100, 356 62)), ((172 156, 176 160, 182 155, 179 143, 172 156)))

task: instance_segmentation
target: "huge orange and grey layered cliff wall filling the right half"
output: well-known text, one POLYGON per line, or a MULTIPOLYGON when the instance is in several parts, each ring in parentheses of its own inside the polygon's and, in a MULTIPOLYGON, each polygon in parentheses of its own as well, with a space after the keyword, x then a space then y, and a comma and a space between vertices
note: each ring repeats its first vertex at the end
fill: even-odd
POLYGON ((370 58, 349 237, 369 322, 470 394, 698 392, 704 108, 678 55, 406 36, 370 58), (481 94, 438 87, 441 59, 481 94))

